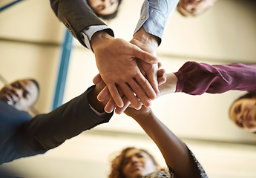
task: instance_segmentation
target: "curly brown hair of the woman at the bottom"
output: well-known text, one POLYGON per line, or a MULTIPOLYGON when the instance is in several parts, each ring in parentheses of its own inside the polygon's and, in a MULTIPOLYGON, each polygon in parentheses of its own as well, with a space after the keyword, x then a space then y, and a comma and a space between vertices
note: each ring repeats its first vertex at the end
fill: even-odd
MULTIPOLYGON (((112 161, 111 161, 111 174, 108 175, 108 178, 125 178, 125 176, 122 174, 122 165, 123 165, 123 161, 125 158, 125 154, 132 150, 132 149, 137 149, 134 147, 128 147, 125 148, 121 151, 121 154, 119 154, 118 156, 116 156, 112 161)), ((154 159, 154 156, 152 156, 151 154, 148 153, 148 151, 145 151, 143 149, 137 149, 139 151, 144 152, 145 154, 148 154, 148 156, 151 158, 151 160, 154 162, 154 165, 157 165, 157 161, 156 159, 154 159)))

